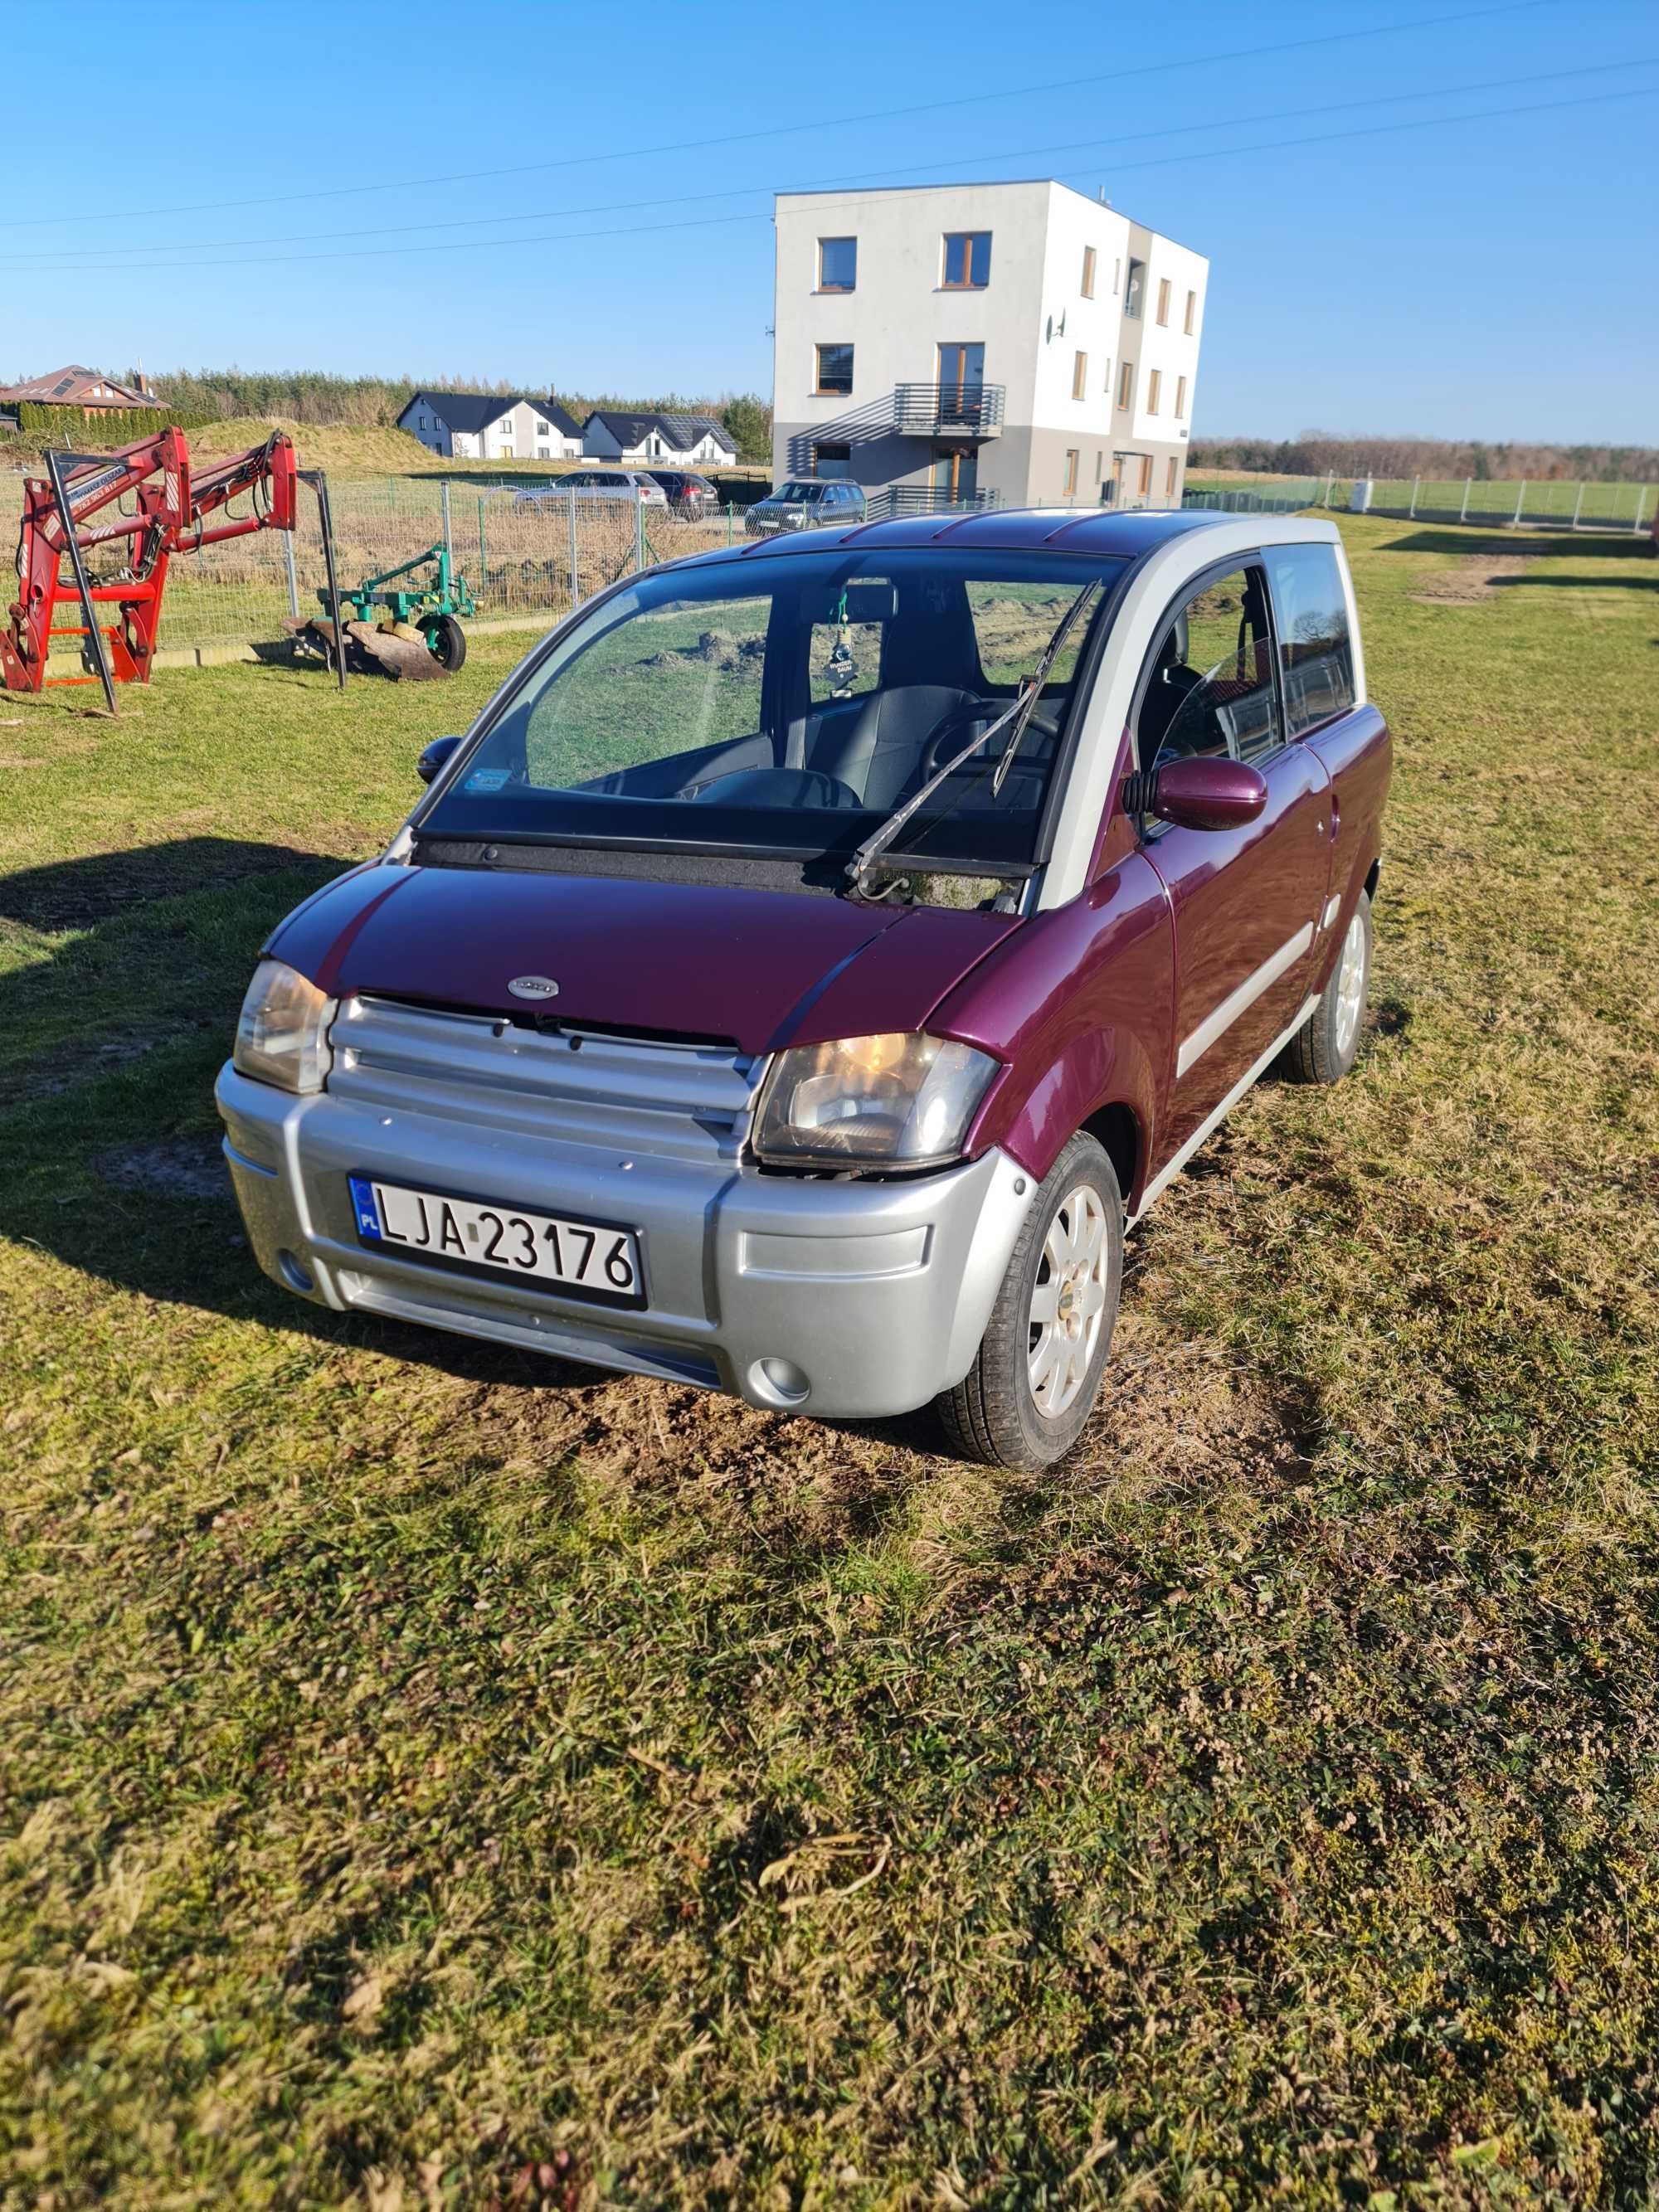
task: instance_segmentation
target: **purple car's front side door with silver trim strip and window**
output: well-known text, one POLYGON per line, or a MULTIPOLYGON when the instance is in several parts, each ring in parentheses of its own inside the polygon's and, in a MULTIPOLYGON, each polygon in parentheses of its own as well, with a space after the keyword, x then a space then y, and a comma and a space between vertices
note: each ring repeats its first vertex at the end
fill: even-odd
POLYGON ((1175 1066, 1159 1148, 1175 1152, 1307 998, 1329 878, 1329 776, 1312 748, 1285 743, 1261 564, 1186 588, 1152 648, 1135 741, 1144 768, 1232 757, 1267 785, 1245 830, 1144 825, 1175 920, 1175 1066))

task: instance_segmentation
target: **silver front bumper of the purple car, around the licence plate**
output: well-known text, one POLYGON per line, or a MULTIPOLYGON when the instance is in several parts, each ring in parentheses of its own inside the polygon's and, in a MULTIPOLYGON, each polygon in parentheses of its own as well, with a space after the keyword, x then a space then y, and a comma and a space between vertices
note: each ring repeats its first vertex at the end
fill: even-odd
POLYGON ((217 1099, 259 1265, 299 1296, 812 1413, 902 1413, 960 1383, 1035 1192, 1002 1152, 911 1181, 805 1181, 591 1124, 573 1137, 522 1115, 290 1097, 230 1066, 217 1099), (648 1303, 580 1303, 363 1245, 354 1172, 630 1223, 648 1303))

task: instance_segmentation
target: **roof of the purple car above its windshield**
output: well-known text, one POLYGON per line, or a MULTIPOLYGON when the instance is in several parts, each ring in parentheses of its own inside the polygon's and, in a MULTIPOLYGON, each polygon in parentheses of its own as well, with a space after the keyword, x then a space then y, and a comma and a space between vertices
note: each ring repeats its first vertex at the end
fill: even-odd
MULTIPOLYGON (((810 482, 810 478, 792 478, 810 482)), ((1210 509, 1148 509, 1117 513, 1113 509, 1075 507, 987 507, 971 515, 902 515, 891 522, 854 522, 843 531, 814 531, 810 538, 761 538, 743 546, 695 553, 692 560, 796 560, 803 553, 825 553, 830 546, 945 546, 951 553, 1035 553, 1053 546, 1060 553, 1097 553, 1137 560, 1157 546, 1181 538, 1197 540, 1203 531, 1228 531, 1254 524, 1259 544, 1298 544, 1310 538, 1336 540, 1336 524, 1310 515, 1223 515, 1210 509)), ((1199 560, 1203 549, 1194 546, 1199 560)))

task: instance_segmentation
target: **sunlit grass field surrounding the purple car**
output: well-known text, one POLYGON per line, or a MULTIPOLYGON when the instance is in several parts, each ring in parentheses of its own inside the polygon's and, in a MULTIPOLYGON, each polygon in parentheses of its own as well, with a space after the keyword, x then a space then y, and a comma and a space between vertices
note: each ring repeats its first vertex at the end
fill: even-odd
POLYGON ((1046 1480, 252 1272, 261 933, 507 641, 0 695, 0 2203, 1655 2199, 1659 566, 1345 533, 1363 1060, 1046 1480))

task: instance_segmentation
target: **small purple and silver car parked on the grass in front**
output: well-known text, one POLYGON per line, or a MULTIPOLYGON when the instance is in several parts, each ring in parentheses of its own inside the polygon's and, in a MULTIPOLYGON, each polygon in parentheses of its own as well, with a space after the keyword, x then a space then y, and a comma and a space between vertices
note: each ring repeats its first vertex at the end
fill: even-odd
POLYGON ((1389 732, 1334 524, 989 511, 633 573, 219 1077, 316 1305, 1042 1467, 1124 1232, 1270 1066, 1349 1071, 1389 732))

